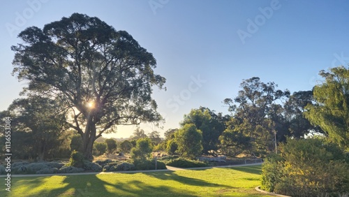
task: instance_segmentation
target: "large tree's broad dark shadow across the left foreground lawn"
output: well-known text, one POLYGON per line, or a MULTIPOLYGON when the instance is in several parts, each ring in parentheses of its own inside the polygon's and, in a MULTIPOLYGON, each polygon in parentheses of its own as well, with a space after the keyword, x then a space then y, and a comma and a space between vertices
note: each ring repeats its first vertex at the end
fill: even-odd
MULTIPOLYGON (((117 174, 113 174, 117 175, 117 174)), ((31 184, 31 187, 42 187, 40 191, 26 194, 13 193, 13 196, 195 196, 188 191, 169 186, 152 186, 151 182, 131 180, 107 182, 97 175, 73 175, 62 178, 56 184, 59 188, 50 189, 46 185, 50 177, 38 177, 35 180, 25 180, 22 184, 31 184)), ((104 179, 104 178, 103 178, 104 179)))

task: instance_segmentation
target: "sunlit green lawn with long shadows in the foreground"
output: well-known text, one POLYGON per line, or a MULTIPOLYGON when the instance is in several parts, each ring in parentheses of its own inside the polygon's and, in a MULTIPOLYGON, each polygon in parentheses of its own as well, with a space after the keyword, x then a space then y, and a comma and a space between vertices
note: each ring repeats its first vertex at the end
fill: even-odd
POLYGON ((13 177, 11 191, 0 196, 265 196, 254 189, 260 168, 13 177))

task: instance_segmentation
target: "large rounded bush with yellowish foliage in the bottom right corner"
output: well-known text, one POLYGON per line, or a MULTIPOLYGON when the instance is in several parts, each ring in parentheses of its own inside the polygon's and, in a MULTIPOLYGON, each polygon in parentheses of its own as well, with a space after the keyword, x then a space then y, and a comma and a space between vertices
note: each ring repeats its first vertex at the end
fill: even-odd
POLYGON ((262 166, 262 187, 288 196, 338 196, 349 188, 346 153, 319 138, 288 139, 262 166))

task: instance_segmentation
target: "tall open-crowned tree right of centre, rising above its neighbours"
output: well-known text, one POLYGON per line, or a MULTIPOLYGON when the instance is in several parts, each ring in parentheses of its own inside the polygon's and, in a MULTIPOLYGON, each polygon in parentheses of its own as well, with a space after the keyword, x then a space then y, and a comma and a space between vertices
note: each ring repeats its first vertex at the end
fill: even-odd
MULTIPOLYGON (((274 82, 264 83, 257 77, 243 80, 240 87, 242 90, 235 99, 224 100, 232 112, 226 132, 235 131, 245 137, 251 137, 251 154, 265 154, 265 151, 274 150, 274 135, 278 138, 279 135, 284 135, 276 130, 280 129, 276 125, 276 118, 279 112, 283 111, 278 101, 287 98, 290 92, 276 89, 277 85, 274 82)), ((225 135, 227 136, 235 135, 225 135)))

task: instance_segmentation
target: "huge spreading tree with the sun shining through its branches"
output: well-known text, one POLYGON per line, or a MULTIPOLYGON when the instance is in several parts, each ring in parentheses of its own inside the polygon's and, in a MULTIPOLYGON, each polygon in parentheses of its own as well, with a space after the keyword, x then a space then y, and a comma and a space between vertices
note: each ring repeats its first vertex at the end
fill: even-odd
POLYGON ((28 82, 23 94, 60 101, 71 116, 67 124, 82 136, 85 158, 115 126, 162 119, 151 93, 165 78, 154 74, 156 59, 126 31, 74 13, 18 37, 13 74, 28 82))

